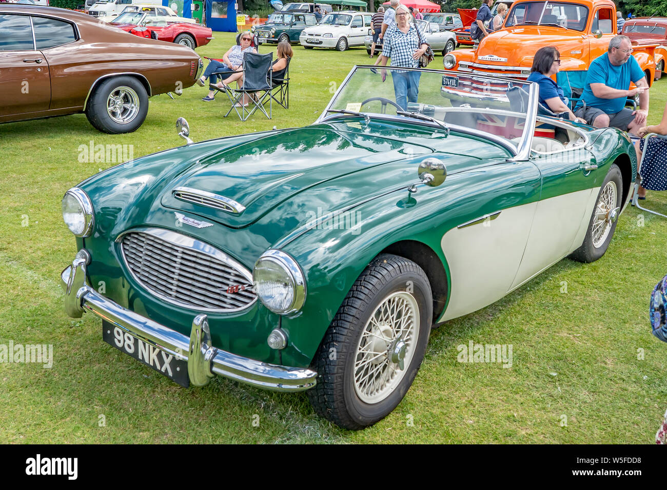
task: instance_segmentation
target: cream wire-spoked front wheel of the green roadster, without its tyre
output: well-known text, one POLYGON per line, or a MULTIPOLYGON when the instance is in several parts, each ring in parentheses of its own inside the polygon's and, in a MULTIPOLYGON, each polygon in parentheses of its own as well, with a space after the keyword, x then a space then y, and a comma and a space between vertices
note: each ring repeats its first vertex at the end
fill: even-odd
POLYGON ((388 295, 366 323, 354 361, 354 389, 365 403, 378 403, 401 383, 419 338, 420 313, 410 293, 388 295))

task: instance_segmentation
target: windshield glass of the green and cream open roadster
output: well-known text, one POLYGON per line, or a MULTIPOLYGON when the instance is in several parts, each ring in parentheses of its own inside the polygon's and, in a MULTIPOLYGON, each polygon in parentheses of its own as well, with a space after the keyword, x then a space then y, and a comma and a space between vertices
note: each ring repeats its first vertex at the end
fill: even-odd
POLYGON ((502 139, 514 147, 519 147, 524 139, 528 141, 530 127, 534 127, 534 121, 526 124, 528 108, 537 107, 538 92, 530 82, 429 69, 388 68, 386 72, 382 83, 382 70, 372 73, 370 67, 354 67, 331 99, 329 113, 321 118, 339 117, 330 112, 333 110, 407 119, 409 116, 398 114, 407 110, 416 117, 436 119, 451 129, 472 129, 482 137, 502 139), (407 80, 410 84, 411 78, 418 81, 417 101, 408 101, 407 107, 401 107, 405 95, 403 101, 397 99, 394 83, 407 80))

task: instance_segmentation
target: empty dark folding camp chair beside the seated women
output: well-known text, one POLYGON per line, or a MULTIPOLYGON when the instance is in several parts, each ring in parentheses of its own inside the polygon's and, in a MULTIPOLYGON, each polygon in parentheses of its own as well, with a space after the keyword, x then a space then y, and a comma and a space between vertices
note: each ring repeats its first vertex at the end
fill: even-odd
POLYGON ((271 101, 271 90, 273 86, 271 85, 271 63, 273 62, 273 53, 267 53, 265 55, 258 55, 255 53, 245 53, 243 56, 243 87, 232 89, 227 87, 225 93, 231 102, 231 107, 229 111, 225 114, 225 117, 231 113, 232 109, 236 111, 241 121, 246 121, 248 117, 253 115, 257 109, 262 111, 264 115, 271 119, 272 113, 272 104, 271 101), (248 99, 248 107, 241 103, 243 96, 248 99), (266 113, 265 103, 269 103, 269 113, 266 113), (239 108, 236 107, 237 103, 241 106, 241 112, 239 113, 239 108))

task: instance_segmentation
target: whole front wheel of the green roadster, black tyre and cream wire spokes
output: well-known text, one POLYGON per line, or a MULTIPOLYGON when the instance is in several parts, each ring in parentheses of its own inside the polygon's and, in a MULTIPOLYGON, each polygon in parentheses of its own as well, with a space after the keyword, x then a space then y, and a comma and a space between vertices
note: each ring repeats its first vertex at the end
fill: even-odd
POLYGON ((344 429, 389 415, 424 359, 433 317, 426 274, 398 255, 376 257, 355 281, 313 359, 313 409, 344 429))

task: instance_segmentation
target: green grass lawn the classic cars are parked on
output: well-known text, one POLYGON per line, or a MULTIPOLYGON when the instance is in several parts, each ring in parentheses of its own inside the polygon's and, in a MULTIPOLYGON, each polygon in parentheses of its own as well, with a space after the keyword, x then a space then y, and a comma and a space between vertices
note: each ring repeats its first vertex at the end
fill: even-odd
MULTIPOLYGON (((200 55, 233 42, 215 33, 200 55)), ((275 47, 261 47, 266 53, 275 47)), ((0 125, 0 344, 53 344, 53 367, 0 363, 0 440, 10 443, 652 443, 667 407, 667 346, 650 334, 648 300, 667 274, 667 220, 627 209, 600 261, 565 259, 498 303, 432 333, 412 389, 386 419, 348 432, 315 416, 305 394, 214 379, 181 389, 103 343, 99 319, 63 311, 59 273, 75 242, 63 193, 113 163, 80 163, 79 145, 133 145, 139 157, 195 141, 312 123, 366 49, 294 46, 290 108, 273 119, 223 119, 205 89, 153 97, 143 126, 105 135, 84 115, 0 125), (458 363, 469 341, 512 344, 511 369, 458 363)), ((436 56, 433 67, 442 67, 436 56)), ((667 80, 650 91, 650 123, 667 80)), ((218 98, 222 98, 218 95, 218 98)), ((667 213, 667 193, 644 201, 667 213)))

